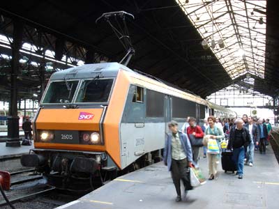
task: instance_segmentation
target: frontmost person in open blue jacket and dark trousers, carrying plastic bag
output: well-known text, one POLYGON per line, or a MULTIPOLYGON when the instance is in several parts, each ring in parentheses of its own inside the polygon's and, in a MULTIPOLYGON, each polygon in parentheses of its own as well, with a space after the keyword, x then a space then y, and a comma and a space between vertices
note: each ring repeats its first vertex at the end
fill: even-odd
POLYGON ((190 184, 190 170, 193 154, 187 134, 178 130, 178 123, 169 123, 172 134, 167 135, 164 149, 164 163, 172 173, 172 180, 176 189, 176 201, 181 201, 180 180, 185 187, 185 196, 188 190, 193 189, 190 184))

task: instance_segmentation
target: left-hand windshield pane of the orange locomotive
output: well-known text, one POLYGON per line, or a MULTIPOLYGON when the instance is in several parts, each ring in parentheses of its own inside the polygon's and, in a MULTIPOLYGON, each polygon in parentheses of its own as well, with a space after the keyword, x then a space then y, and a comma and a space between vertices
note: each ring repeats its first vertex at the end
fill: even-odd
POLYGON ((70 103, 79 81, 52 82, 43 103, 70 103))

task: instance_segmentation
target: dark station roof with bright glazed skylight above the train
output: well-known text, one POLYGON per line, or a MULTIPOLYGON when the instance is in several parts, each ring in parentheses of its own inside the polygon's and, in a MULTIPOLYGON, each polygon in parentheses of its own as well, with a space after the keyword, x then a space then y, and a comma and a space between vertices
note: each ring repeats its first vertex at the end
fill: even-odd
MULTIPOLYGON (((78 48, 80 53, 74 53, 73 45, 66 44, 68 56, 75 54, 77 59, 84 60, 84 54, 90 50, 106 56, 109 61, 120 61, 125 54, 123 47, 105 22, 96 24, 95 21, 103 13, 125 10, 135 16, 135 20, 128 20, 135 47, 129 68, 193 91, 202 98, 230 84, 246 82, 247 77, 252 78, 255 91, 273 96, 278 94, 279 87, 276 82, 279 37, 276 6, 271 3, 267 2, 266 9, 266 1, 250 0, 82 3, 11 0, 0 5, 4 19, 0 33, 12 36, 13 25, 7 26, 7 21, 20 19, 26 23, 25 32, 29 33, 24 34, 24 42, 50 49, 56 40, 66 40, 82 47, 78 48), (211 45, 212 18, 215 49, 211 45), (44 31, 47 38, 32 38, 37 30, 44 31), (217 44, 220 39, 225 45, 222 49, 217 44), (202 40, 209 43, 209 49, 203 49, 202 40), (239 49, 245 55, 235 57, 239 49)), ((8 84, 8 80, 3 81, 1 76, 0 79, 8 84)), ((40 85, 39 79, 36 82, 28 79, 20 81, 22 88, 40 85)))

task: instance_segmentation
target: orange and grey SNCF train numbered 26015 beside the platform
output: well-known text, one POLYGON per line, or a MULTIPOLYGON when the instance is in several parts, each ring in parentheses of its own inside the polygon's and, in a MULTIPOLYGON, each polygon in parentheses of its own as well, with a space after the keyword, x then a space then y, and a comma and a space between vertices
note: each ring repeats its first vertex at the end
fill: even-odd
POLYGON ((69 68, 50 77, 33 120, 34 148, 21 162, 55 187, 94 189, 158 162, 169 121, 211 114, 236 116, 119 63, 69 68))

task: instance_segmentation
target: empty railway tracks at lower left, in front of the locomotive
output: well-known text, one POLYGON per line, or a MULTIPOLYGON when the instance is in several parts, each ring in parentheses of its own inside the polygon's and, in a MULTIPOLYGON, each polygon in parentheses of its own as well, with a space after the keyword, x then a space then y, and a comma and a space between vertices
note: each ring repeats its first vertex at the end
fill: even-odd
MULTIPOLYGON (((11 187, 6 196, 15 208, 56 208, 80 198, 84 194, 61 192, 59 189, 46 185, 43 176, 35 173, 35 169, 27 169, 10 173, 11 187)), ((0 208, 8 209, 8 203, 0 194, 0 208)))

